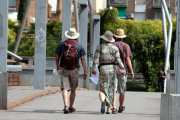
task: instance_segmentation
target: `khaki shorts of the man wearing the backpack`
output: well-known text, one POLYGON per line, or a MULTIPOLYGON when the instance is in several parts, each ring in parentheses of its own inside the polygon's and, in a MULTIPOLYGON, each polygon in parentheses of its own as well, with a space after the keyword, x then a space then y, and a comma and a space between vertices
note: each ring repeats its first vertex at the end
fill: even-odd
POLYGON ((75 91, 78 86, 79 70, 66 70, 61 68, 61 90, 75 91))

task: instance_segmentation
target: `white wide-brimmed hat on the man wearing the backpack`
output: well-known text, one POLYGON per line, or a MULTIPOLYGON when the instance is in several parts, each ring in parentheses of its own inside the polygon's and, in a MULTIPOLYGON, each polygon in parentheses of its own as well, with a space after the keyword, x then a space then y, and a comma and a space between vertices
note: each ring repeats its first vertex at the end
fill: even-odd
POLYGON ((70 28, 69 31, 65 32, 65 36, 69 39, 77 39, 79 37, 79 33, 75 28, 70 28))

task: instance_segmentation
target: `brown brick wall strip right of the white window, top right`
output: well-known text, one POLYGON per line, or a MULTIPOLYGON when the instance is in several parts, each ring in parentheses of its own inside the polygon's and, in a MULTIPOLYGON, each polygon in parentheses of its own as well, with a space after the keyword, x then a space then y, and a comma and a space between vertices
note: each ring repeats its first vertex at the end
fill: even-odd
POLYGON ((146 0, 146 18, 154 19, 153 0, 146 0))

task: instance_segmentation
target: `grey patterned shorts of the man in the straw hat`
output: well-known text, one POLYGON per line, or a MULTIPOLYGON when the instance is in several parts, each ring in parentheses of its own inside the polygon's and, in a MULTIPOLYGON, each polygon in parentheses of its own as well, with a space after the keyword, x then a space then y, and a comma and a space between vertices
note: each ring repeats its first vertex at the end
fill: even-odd
POLYGON ((127 82, 127 75, 122 76, 121 74, 117 74, 118 79, 118 91, 119 94, 124 94, 126 92, 126 82, 127 82))

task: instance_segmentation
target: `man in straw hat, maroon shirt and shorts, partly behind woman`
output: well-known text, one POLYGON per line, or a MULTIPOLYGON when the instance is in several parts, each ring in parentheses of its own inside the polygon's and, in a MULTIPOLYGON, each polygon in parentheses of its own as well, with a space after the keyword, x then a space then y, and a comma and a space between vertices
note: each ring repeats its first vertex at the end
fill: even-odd
POLYGON ((123 42, 123 38, 126 37, 124 34, 124 29, 117 29, 116 34, 114 35, 116 37, 116 42, 112 43, 113 45, 117 46, 120 52, 120 58, 123 62, 124 68, 126 70, 126 75, 123 76, 120 73, 119 66, 116 65, 116 73, 117 73, 117 78, 118 78, 118 91, 119 91, 119 113, 122 113, 123 110, 125 110, 125 106, 123 106, 124 103, 124 98, 125 98, 125 91, 126 91, 126 82, 127 82, 127 65, 131 71, 131 79, 134 79, 134 72, 132 69, 132 64, 131 64, 131 49, 128 44, 123 42), (126 65, 127 63, 127 65, 126 65))

